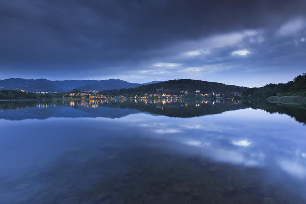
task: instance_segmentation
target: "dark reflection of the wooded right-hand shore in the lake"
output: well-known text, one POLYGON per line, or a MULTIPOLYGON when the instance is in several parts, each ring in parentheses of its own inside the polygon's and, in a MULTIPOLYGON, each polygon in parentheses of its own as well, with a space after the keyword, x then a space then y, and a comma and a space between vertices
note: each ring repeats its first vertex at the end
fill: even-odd
POLYGON ((245 106, 253 109, 262 109, 266 112, 287 114, 296 121, 306 125, 306 104, 284 104, 284 103, 269 103, 268 101, 244 101, 245 106))

